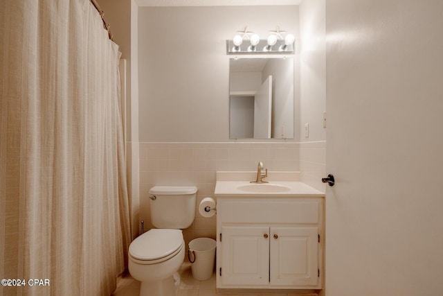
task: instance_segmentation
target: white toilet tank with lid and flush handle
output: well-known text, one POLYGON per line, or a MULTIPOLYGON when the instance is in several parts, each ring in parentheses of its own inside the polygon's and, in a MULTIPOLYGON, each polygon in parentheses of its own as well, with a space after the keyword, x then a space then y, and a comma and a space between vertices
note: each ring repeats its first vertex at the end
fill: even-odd
POLYGON ((151 223, 156 228, 185 229, 195 217, 195 186, 154 186, 150 189, 151 223))

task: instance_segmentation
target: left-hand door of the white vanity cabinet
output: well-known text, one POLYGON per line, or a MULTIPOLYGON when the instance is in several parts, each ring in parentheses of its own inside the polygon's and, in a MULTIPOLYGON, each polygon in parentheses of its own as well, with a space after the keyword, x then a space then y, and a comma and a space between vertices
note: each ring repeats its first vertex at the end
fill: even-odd
POLYGON ((238 287, 269 285, 269 227, 223 226, 221 281, 238 287))

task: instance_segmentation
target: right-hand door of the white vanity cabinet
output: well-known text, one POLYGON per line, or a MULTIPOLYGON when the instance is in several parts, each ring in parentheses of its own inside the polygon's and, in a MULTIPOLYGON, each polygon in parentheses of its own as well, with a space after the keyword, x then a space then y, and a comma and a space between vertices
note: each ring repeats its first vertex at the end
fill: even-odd
POLYGON ((271 286, 318 285, 318 227, 271 227, 271 286))

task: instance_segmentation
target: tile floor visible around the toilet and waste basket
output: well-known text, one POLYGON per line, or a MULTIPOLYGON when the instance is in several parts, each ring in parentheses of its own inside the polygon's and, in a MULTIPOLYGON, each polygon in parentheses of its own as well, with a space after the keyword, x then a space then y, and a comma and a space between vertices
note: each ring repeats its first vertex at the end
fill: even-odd
MULTIPOLYGON (((191 263, 185 261, 183 265, 181 265, 180 269, 181 276, 181 284, 179 290, 179 296, 292 296, 296 294, 273 294, 273 293, 217 293, 215 288, 215 273, 213 277, 208 279, 207 281, 197 281, 194 279, 191 274, 191 263)), ((138 296, 140 291, 140 281, 137 281, 131 277, 129 274, 125 274, 120 277, 117 281, 117 288, 113 294, 113 296, 138 296)), ((305 294, 308 295, 308 294, 305 294)), ((311 295, 311 294, 309 294, 311 295)))

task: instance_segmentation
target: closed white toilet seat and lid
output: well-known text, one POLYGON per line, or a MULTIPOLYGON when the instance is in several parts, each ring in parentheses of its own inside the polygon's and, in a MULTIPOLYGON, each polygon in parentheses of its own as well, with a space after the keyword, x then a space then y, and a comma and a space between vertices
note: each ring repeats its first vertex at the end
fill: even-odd
POLYGON ((129 245, 129 256, 141 264, 166 261, 184 247, 180 229, 151 229, 129 245))

